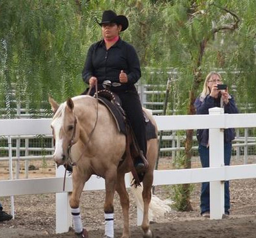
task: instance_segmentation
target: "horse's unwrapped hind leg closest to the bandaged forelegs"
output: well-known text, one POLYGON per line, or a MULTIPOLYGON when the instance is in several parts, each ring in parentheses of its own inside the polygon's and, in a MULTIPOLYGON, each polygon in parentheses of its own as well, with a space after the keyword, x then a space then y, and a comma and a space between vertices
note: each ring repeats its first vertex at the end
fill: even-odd
POLYGON ((122 238, 129 238, 129 195, 125 188, 124 174, 118 174, 118 183, 116 184, 116 191, 120 197, 120 204, 124 215, 124 229, 122 238))

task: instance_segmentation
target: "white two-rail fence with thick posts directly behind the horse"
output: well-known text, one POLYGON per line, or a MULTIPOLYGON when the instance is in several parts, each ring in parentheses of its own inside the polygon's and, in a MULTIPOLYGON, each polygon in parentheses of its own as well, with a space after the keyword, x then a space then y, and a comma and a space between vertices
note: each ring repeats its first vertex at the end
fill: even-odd
MULTIPOLYGON (((256 177, 256 164, 224 165, 223 129, 256 127, 256 114, 224 114, 223 108, 211 108, 209 115, 173 115, 155 116, 158 130, 188 130, 209 128, 210 167, 182 170, 156 170, 154 185, 186 184, 210 182, 211 219, 221 219, 224 213, 224 183, 232 179, 256 177)), ((14 119, 0 120, 1 135, 51 134, 51 119, 14 119)), ((56 193, 56 232, 67 232, 70 226, 68 192, 72 191, 72 182, 68 178, 65 192, 63 173, 60 169, 56 178, 15 179, 0 181, 0 197, 29 195, 37 193, 56 193), (60 177, 61 176, 61 177, 60 177)), ((129 178, 126 178, 129 187, 129 178)), ((103 179, 93 176, 86 182, 84 190, 103 190, 103 179)))

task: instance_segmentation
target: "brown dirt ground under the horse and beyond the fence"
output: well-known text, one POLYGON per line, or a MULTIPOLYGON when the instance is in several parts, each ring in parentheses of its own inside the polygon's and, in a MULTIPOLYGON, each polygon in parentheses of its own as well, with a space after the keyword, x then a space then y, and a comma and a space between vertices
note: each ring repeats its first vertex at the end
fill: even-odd
MULTIPOLYGON (((243 158, 232 164, 243 163, 243 158)), ((249 158, 249 163, 256 163, 256 158, 249 158)), ((33 161, 31 161, 31 164, 33 161)), ((29 177, 52 177, 54 166, 51 161, 42 167, 40 163, 33 165, 38 170, 29 171, 29 177)), ((193 159, 193 167, 199 166, 198 158, 193 159)), ((22 165, 21 165, 22 167, 22 165)), ((172 168, 172 161, 162 159, 160 168, 172 168)), ((0 162, 0 179, 8 177, 8 165, 0 162)), ((14 176, 15 177, 15 176, 14 176)), ((20 178, 24 177, 24 170, 20 170, 20 178)), ((170 198, 173 195, 172 186, 157 186, 157 197, 170 198)), ((256 237, 256 179, 230 181, 231 214, 229 218, 210 220, 200 216, 200 184, 195 184, 191 193, 191 212, 168 212, 164 218, 155 219, 151 228, 155 238, 241 238, 256 237)), ((136 205, 130 193, 131 209, 131 238, 140 238, 141 229, 136 226, 136 205)), ((26 195, 17 196, 15 200, 15 219, 0 222, 0 238, 17 237, 74 237, 70 230, 65 234, 55 234, 55 195, 26 195)), ((1 197, 4 211, 10 212, 10 198, 1 197)), ((104 191, 83 192, 81 197, 81 216, 83 225, 89 231, 90 238, 100 238, 104 235, 104 191)), ((118 196, 115 195, 115 237, 122 236, 122 211, 118 196)))

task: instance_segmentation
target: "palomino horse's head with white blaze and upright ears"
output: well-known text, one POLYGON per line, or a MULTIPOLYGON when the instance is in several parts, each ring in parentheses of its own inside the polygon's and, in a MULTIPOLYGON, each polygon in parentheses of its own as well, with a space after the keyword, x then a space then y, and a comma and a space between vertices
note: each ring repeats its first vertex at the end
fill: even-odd
POLYGON ((68 162, 70 148, 79 139, 79 126, 77 126, 77 117, 74 113, 74 102, 68 98, 65 103, 58 105, 49 97, 49 103, 54 112, 51 123, 55 142, 53 158, 57 165, 63 165, 68 162))

